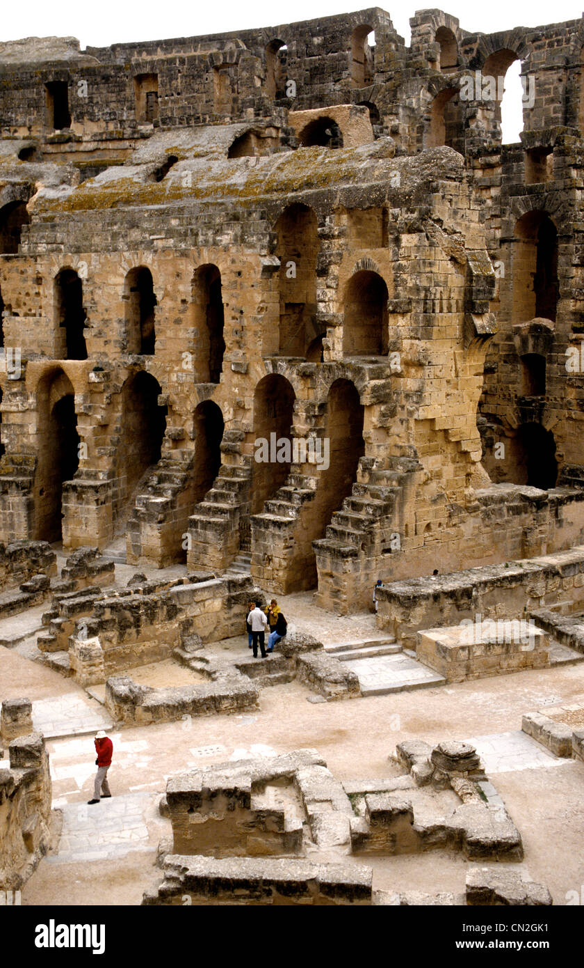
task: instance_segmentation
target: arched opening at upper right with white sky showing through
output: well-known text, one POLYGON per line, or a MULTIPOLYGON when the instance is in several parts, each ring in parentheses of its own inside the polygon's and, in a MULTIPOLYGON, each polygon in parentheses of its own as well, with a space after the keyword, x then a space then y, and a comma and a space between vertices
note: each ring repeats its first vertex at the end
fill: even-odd
MULTIPOLYGON (((496 92, 487 106, 502 144, 514 144, 523 131, 523 88, 521 61, 514 50, 504 48, 489 54, 482 68, 482 86, 496 92)), ((484 97, 483 97, 484 102, 484 97)))

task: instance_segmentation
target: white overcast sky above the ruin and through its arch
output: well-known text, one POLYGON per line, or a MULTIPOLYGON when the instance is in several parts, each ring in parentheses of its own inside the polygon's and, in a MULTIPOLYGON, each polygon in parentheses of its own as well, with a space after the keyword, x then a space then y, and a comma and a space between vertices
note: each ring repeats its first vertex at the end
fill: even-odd
MULTIPOLYGON (((219 3, 189 4, 164 3, 161 0, 28 0, 9 3, 4 0, 0 18, 0 41, 21 37, 76 37, 82 47, 107 46, 122 41, 152 41, 168 37, 192 37, 197 34, 242 30, 247 27, 293 23, 319 16, 350 13, 367 8, 359 0, 295 0, 294 3, 275 4, 274 0, 222 0, 219 3)), ((371 6, 374 6, 371 4, 371 6)), ((414 2, 379 4, 387 10, 398 34, 410 41, 409 18, 424 7, 439 7, 457 16, 460 26, 469 31, 489 33, 510 27, 537 27, 540 24, 571 20, 582 15, 583 0, 485 0, 469 4, 468 0, 449 0, 438 3, 414 2)), ((512 70, 512 68, 511 68, 512 70)), ((517 83, 517 82, 516 82, 517 83)), ((510 89, 510 84, 507 87, 510 89)), ((511 95, 511 89, 510 89, 511 95)), ((520 88, 515 87, 515 104, 520 99, 520 88)), ((507 101, 507 98, 506 98, 507 101)), ((504 140, 516 140, 520 125, 516 109, 506 124, 504 110, 504 140), (513 117, 514 115, 514 117, 513 117), (507 130, 506 130, 507 129, 507 130)))

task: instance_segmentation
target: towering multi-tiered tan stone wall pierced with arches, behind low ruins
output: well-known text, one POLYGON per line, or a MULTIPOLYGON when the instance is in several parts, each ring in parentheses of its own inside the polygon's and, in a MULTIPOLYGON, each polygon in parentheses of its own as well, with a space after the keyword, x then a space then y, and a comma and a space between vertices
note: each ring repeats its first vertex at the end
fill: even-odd
POLYGON ((408 48, 377 8, 2 45, 0 537, 247 551, 337 612, 377 577, 584 540, 583 48, 580 20, 435 10, 408 48), (534 99, 502 145, 500 106, 457 85, 516 58, 534 99), (256 464, 271 433, 329 439, 330 472, 256 464))

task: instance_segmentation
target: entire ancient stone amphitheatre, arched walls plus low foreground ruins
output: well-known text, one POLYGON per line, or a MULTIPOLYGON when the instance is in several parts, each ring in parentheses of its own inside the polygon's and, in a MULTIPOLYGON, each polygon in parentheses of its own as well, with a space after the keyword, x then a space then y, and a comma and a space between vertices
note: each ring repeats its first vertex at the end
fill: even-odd
MULTIPOLYGON (((200 649, 241 635, 260 589, 314 592, 334 622, 370 612, 381 579, 376 627, 388 639, 371 648, 417 649, 430 686, 516 670, 568 676, 549 670, 554 643, 556 666, 580 668, 570 663, 584 651, 584 20, 482 34, 427 10, 411 25, 409 46, 379 8, 84 50, 71 37, 0 44, 0 615, 52 594, 41 658, 80 691, 107 681, 92 701, 113 722, 152 730, 255 709, 247 650, 226 672, 224 655, 200 649), (514 61, 523 131, 503 144, 514 61), (55 553, 59 566, 69 557, 57 580, 55 553), (108 597, 113 569, 128 565, 148 580, 108 597), (460 622, 478 610, 535 622, 536 645, 489 650, 482 630, 469 652, 460 622), (172 655, 215 692, 192 686, 174 702, 125 675, 172 655)), ((323 650, 290 635, 270 659, 279 679, 264 684, 389 702, 346 663, 339 671, 341 639, 323 650)), ((573 701, 578 687, 556 683, 555 699, 573 701)), ((7 722, 27 688, 7 698, 7 722)), ((530 741, 580 770, 582 734, 550 727, 543 741, 545 704, 537 692, 528 700, 530 741)), ((45 750, 38 734, 22 740, 22 709, 24 726, 4 739, 16 743, 11 767, 36 764, 46 839, 45 750)), ((481 726, 456 730, 468 740, 481 726)), ((357 868, 336 881, 306 859, 296 873, 283 861, 256 869, 255 855, 302 854, 303 811, 318 863, 332 845, 520 860, 507 813, 500 836, 488 834, 474 747, 442 749, 440 732, 420 732, 429 745, 416 746, 413 727, 395 738, 401 786, 343 790, 309 737, 263 766, 231 774, 218 754, 202 779, 175 777, 163 807, 173 860, 146 903, 185 892, 209 903, 201 884, 224 886, 234 870, 248 903, 249 885, 280 884, 282 871, 304 885, 299 903, 400 903, 371 894, 357 868), (310 806, 317 779, 328 819, 310 806), (414 821, 419 786, 468 807, 439 843, 427 804, 414 821), (300 798, 296 826, 284 788, 300 798), (394 791, 410 789, 408 806, 394 791), (240 817, 211 873, 208 840, 184 832, 187 802, 201 831, 225 802, 229 823, 240 817), (189 854, 196 863, 181 867, 189 854), (235 855, 244 871, 225 861, 235 855)), ((20 844, 13 854, 22 866, 20 844)), ((468 903, 511 896, 469 878, 468 903)), ((269 902, 284 903, 279 890, 269 902)), ((528 895, 521 903, 548 902, 528 895)), ((465 902, 453 897, 443 902, 465 902)))

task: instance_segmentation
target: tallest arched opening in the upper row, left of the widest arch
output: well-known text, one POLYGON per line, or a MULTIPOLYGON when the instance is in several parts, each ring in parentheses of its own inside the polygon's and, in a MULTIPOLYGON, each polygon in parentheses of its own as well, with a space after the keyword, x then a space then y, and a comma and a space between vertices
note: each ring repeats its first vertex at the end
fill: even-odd
POLYGON ((316 328, 318 224, 307 205, 289 205, 277 220, 279 347, 281 356, 305 357, 316 328))

